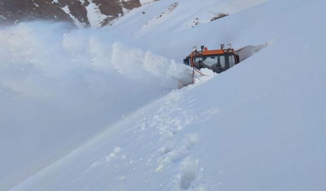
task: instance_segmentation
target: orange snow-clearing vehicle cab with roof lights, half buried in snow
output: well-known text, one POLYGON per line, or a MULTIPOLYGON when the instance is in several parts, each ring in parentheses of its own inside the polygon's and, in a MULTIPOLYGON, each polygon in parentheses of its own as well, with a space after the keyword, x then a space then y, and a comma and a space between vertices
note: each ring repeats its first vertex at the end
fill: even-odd
POLYGON ((234 52, 231 45, 228 46, 228 49, 224 49, 224 44, 221 44, 221 49, 218 50, 208 50, 207 47, 201 46, 201 51, 198 51, 194 47, 194 51, 183 60, 183 63, 190 67, 199 70, 208 68, 216 73, 224 72, 239 62, 239 55, 234 52))

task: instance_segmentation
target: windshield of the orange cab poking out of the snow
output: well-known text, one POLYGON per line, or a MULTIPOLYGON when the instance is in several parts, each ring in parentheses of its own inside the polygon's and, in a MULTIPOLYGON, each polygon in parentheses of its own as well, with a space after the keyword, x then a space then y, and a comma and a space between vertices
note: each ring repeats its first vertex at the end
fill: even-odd
POLYGON ((198 69, 208 68, 216 73, 221 73, 236 64, 232 53, 193 57, 193 63, 198 69))

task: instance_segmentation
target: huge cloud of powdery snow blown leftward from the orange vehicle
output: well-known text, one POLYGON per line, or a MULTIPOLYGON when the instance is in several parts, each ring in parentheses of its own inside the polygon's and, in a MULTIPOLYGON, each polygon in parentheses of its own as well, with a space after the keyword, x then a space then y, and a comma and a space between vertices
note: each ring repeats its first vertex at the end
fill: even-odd
POLYGON ((0 149, 21 150, 1 157, 0 163, 12 164, 0 172, 2 182, 23 179, 180 81, 191 82, 183 64, 107 40, 105 30, 20 23, 0 30, 0 44, 0 99, 6 108, 0 111, 0 149), (27 166, 34 170, 20 169, 27 166))

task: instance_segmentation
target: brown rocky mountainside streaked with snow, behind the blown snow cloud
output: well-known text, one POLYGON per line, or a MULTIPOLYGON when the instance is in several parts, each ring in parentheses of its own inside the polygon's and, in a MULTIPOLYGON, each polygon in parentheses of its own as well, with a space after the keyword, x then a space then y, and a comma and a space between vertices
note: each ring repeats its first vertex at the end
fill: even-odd
POLYGON ((139 0, 1 0, 0 5, 2 24, 41 19, 68 21, 80 28, 100 28, 141 6, 139 0))

